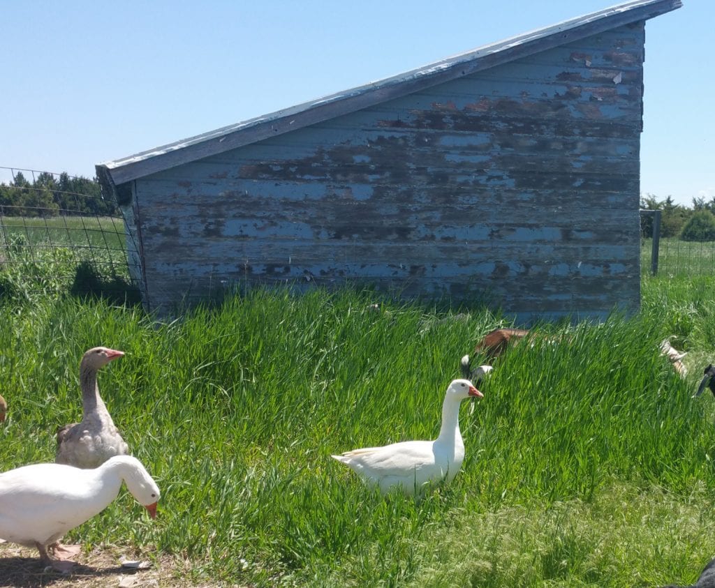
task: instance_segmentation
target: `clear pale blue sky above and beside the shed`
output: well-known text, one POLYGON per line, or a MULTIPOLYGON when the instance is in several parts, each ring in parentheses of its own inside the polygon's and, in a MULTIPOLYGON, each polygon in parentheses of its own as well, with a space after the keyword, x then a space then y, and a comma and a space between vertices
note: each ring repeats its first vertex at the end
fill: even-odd
MULTIPOLYGON (((94 164, 613 0, 0 0, 0 166, 94 164)), ((641 192, 715 196, 715 1, 646 24, 641 192)), ((0 169, 0 181, 9 181, 0 169)))

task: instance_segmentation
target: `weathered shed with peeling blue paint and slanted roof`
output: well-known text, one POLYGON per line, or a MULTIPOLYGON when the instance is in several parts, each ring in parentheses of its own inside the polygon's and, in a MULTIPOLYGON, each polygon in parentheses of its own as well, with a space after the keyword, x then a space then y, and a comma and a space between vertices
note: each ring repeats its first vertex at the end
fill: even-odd
POLYGON ((97 165, 144 303, 365 281, 601 317, 640 303, 635 0, 97 165))

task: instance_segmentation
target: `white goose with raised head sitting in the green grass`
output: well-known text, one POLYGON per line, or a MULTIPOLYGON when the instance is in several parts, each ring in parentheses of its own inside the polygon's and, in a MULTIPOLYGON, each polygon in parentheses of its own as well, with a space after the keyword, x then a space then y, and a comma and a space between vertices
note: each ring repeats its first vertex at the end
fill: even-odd
POLYGON ((355 449, 332 457, 355 470, 368 483, 378 484, 383 493, 400 487, 406 494, 414 495, 428 482, 442 479, 451 482, 464 459, 459 407, 469 397, 483 398, 483 394, 469 380, 451 382, 442 404, 442 428, 434 441, 404 441, 355 449))

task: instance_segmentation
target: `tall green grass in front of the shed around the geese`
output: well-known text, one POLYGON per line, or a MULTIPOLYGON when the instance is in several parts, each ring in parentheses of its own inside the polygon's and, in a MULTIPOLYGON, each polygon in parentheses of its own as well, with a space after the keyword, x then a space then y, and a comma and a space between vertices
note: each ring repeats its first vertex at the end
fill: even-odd
POLYGON ((715 554, 715 399, 691 397, 715 356, 715 282, 642 286, 639 314, 537 325, 548 337, 498 359, 463 403, 460 473, 421 500, 380 496, 330 454, 436 437, 459 358, 499 314, 257 289, 160 320, 9 292, 0 469, 54 461, 82 414, 79 359, 102 344, 126 352, 99 388, 162 499, 152 521, 123 489, 67 537, 85 549, 187 561, 196 586, 694 582, 715 554), (671 335, 686 379, 659 354, 671 335))

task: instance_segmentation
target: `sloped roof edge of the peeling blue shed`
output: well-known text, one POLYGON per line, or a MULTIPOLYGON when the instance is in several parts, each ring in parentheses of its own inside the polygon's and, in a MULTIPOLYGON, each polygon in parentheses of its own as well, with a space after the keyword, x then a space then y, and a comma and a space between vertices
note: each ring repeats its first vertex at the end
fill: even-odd
POLYGON ((652 19, 681 6, 681 0, 632 0, 511 39, 484 45, 397 76, 224 126, 122 159, 106 161, 97 165, 97 172, 100 178, 105 174, 111 176, 115 186, 124 184, 157 171, 350 114, 618 26, 652 19))

